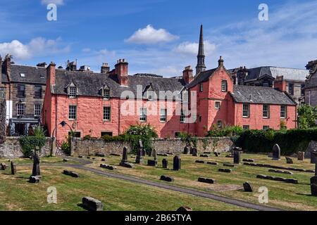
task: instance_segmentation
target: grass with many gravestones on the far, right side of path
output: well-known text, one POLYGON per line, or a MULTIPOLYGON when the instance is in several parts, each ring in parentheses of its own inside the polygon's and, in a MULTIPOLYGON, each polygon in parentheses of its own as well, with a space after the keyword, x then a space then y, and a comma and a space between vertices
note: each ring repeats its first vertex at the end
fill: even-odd
MULTIPOLYGON (((190 155, 181 155, 182 158, 182 169, 179 172, 175 172, 173 169, 173 156, 170 157, 159 157, 159 165, 157 167, 148 167, 146 165, 147 159, 144 159, 144 165, 136 165, 135 169, 127 169, 118 166, 120 162, 120 157, 110 156, 106 158, 106 164, 116 165, 118 169, 114 173, 126 174, 130 176, 139 177, 142 179, 149 179, 156 182, 159 181, 161 175, 173 176, 175 181, 170 185, 181 186, 186 188, 192 188, 199 191, 206 191, 208 193, 213 193, 217 195, 223 195, 231 198, 236 198, 240 200, 247 200, 251 203, 259 204, 259 187, 266 186, 268 188, 269 206, 280 207, 285 210, 317 210, 317 198, 311 196, 310 191, 310 178, 314 176, 312 173, 303 172, 293 172, 294 174, 276 174, 268 172, 268 168, 261 167, 250 167, 244 165, 235 165, 235 168, 223 167, 223 163, 232 163, 232 158, 225 158, 225 153, 221 157, 216 158, 211 155, 209 158, 199 158, 192 157, 190 155), (161 161, 163 158, 168 159, 168 164, 170 169, 163 169, 161 166, 161 161), (205 162, 218 162, 218 166, 213 165, 201 165, 194 163, 195 160, 204 160, 205 162), (220 173, 219 168, 232 169, 232 173, 220 173), (270 175, 270 176, 280 176, 283 178, 293 178, 298 179, 299 184, 286 184, 280 181, 269 181, 263 179, 257 179, 256 175, 270 175), (216 179, 216 184, 203 184, 199 183, 197 179, 199 177, 206 177, 216 179), (240 185, 245 181, 251 182, 254 187, 254 193, 245 193, 244 191, 219 191, 225 185, 240 185)), ((263 163, 269 165, 279 165, 282 167, 295 167, 303 169, 314 169, 314 165, 310 164, 310 160, 305 160, 304 162, 298 161, 293 158, 294 165, 287 165, 285 158, 282 157, 280 161, 273 161, 268 158, 267 155, 255 155, 255 154, 242 154, 242 158, 251 158, 256 160, 256 163, 263 163)), ((135 162, 135 159, 130 158, 130 162, 135 162)), ((97 158, 93 161, 92 165, 87 165, 87 167, 94 167, 104 170, 99 167, 101 159, 97 158)))

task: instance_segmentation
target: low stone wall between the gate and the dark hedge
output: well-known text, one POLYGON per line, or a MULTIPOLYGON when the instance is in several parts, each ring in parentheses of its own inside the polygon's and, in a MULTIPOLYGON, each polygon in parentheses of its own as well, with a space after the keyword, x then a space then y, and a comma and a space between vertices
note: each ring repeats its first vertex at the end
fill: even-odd
MULTIPOLYGON (((186 144, 180 139, 155 139, 154 148, 158 153, 182 153, 186 144)), ((234 143, 229 138, 198 138, 197 150, 204 151, 229 151, 234 143), (206 149, 204 149, 204 141, 207 141, 206 149)), ((103 139, 81 140, 73 139, 73 153, 72 155, 96 155, 96 153, 103 153, 109 155, 111 153, 121 154, 123 148, 127 147, 130 152, 130 143, 111 141, 105 142, 103 139)))

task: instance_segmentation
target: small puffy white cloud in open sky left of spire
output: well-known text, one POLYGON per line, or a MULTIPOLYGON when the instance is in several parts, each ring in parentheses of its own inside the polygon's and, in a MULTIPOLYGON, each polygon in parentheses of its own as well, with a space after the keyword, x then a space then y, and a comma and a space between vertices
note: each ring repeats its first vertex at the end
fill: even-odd
POLYGON ((177 36, 170 34, 164 29, 156 30, 151 25, 147 25, 144 29, 137 30, 126 42, 135 44, 159 44, 162 42, 170 42, 178 39, 177 36))

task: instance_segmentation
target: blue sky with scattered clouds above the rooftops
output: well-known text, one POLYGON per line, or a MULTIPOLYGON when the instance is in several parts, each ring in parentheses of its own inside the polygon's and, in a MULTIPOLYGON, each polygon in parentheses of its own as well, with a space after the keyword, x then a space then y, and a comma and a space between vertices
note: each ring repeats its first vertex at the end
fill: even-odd
POLYGON ((197 62, 204 25, 207 68, 225 58, 226 68, 274 65, 304 68, 317 57, 317 1, 1 0, 0 53, 15 63, 77 59, 99 71, 119 58, 130 74, 180 75, 197 62), (46 20, 48 3, 57 21, 46 20), (269 7, 259 21, 259 4, 269 7))

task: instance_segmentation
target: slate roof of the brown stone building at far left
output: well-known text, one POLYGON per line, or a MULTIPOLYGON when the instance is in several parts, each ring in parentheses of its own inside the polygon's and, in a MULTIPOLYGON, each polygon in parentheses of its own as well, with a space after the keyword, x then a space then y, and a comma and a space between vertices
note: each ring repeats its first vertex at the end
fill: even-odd
POLYGON ((45 85, 46 68, 11 64, 11 82, 45 85), (25 77, 21 77, 21 73, 25 74, 25 77))

